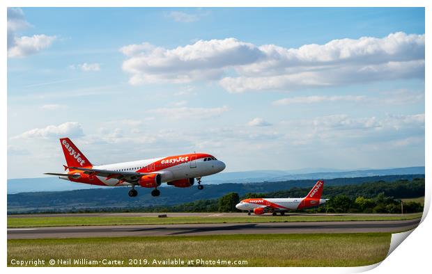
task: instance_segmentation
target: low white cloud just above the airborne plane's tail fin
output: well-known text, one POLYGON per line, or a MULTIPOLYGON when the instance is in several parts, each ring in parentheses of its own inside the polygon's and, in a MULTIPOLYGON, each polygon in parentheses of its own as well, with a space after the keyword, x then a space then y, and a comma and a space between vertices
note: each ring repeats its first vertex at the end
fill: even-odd
POLYGON ((29 131, 25 131, 19 136, 15 136, 15 138, 60 138, 60 137, 80 137, 84 136, 84 132, 82 131, 81 124, 77 122, 65 122, 63 124, 59 124, 58 126, 49 125, 44 128, 36 128, 31 129, 29 131))

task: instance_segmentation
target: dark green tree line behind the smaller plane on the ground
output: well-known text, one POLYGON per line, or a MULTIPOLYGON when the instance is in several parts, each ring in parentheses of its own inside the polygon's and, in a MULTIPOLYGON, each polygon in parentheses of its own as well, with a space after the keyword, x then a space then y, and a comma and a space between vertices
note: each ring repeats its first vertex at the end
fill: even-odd
MULTIPOLYGON (((300 198, 306 196, 309 191, 310 188, 294 187, 287 191, 247 193, 241 197, 238 193, 232 192, 218 199, 196 200, 170 206, 105 207, 99 209, 75 209, 72 207, 68 209, 68 212, 238 212, 236 204, 246 198, 300 198)), ((424 196, 424 178, 415 178, 412 181, 402 179, 396 182, 378 181, 348 186, 325 186, 322 198, 330 200, 320 207, 300 211, 310 213, 401 213, 402 198, 421 196, 424 196)), ((403 213, 422 211, 423 206, 419 202, 403 203, 403 213)), ((64 211, 49 212, 60 213, 64 211)))

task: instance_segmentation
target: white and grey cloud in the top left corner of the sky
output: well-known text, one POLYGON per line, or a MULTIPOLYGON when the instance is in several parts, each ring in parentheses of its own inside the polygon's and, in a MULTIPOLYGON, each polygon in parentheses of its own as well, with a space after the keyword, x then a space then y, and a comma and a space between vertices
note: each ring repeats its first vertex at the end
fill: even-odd
POLYGON ((46 49, 56 40, 56 36, 36 34, 32 36, 18 36, 17 31, 31 26, 20 8, 8 8, 8 57, 24 57, 37 54, 46 49))

